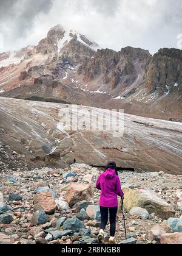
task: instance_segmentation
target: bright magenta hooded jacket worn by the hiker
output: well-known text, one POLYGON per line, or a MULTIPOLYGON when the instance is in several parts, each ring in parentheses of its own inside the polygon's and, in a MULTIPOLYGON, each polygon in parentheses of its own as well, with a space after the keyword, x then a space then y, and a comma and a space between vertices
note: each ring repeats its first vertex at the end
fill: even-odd
POLYGON ((102 207, 118 207, 118 197, 123 197, 120 178, 115 170, 107 169, 103 172, 95 185, 95 188, 101 190, 99 205, 102 207))

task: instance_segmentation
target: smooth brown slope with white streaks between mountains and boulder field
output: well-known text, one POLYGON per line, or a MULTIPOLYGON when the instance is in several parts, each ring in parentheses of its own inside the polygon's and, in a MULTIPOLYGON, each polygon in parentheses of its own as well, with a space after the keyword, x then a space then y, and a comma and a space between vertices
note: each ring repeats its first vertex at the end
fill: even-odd
MULTIPOLYGON (((49 166, 67 166, 73 158, 80 163, 105 166, 113 159, 118 166, 136 171, 164 171, 181 174, 182 124, 124 115, 122 133, 85 131, 83 121, 92 110, 78 106, 78 131, 67 131, 65 110, 72 105, 0 98, 0 140, 28 160, 45 160, 49 166), (83 126, 82 126, 83 124, 83 126)), ((122 121, 122 119, 121 119, 122 121)), ((92 124, 96 119, 92 119, 92 124)))

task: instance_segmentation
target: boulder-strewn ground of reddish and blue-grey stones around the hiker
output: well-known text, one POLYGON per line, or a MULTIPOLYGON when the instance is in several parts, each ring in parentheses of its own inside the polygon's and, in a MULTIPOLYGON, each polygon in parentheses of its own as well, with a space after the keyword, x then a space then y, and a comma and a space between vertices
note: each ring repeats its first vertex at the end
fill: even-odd
MULTIPOLYGON (((101 171, 84 164, 2 169, 0 243, 96 243, 100 215, 94 185, 101 171)), ((182 243, 182 176, 123 172, 120 179, 129 240, 124 241, 119 210, 116 243, 182 243)))

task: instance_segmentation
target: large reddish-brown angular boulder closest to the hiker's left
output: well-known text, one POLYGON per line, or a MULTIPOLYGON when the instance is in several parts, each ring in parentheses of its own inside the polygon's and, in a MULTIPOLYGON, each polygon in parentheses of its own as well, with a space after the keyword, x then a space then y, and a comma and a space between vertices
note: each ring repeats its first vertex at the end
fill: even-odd
POLYGON ((89 184, 73 183, 66 191, 66 201, 72 208, 79 201, 89 201, 92 197, 92 187, 89 184))

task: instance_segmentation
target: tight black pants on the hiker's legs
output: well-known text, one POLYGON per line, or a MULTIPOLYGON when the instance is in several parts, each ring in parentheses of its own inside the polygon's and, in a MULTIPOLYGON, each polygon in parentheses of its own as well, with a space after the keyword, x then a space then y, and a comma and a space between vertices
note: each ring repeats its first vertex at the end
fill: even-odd
POLYGON ((105 230, 108 222, 108 210, 109 210, 109 221, 110 221, 110 236, 115 236, 116 232, 116 214, 118 212, 118 207, 102 207, 101 210, 101 225, 100 229, 105 230))

